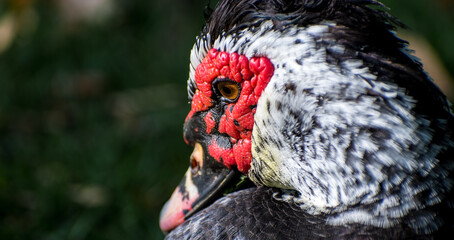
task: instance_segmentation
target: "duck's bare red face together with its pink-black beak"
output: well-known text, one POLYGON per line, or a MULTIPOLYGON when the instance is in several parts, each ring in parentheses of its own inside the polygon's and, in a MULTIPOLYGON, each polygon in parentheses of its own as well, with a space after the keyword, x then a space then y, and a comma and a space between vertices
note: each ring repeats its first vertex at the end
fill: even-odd
POLYGON ((191 65, 191 111, 184 124, 184 139, 194 151, 183 181, 163 209, 163 231, 222 196, 248 173, 257 101, 273 76, 266 57, 215 48, 203 55, 191 65))

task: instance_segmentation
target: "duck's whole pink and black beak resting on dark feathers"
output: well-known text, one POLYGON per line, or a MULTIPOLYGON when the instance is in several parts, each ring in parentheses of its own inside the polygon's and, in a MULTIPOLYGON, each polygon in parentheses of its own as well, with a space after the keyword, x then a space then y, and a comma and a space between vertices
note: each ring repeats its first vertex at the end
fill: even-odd
POLYGON ((240 172, 205 156, 202 145, 196 143, 189 169, 161 210, 159 226, 164 233, 222 197, 232 183, 240 181, 240 172))

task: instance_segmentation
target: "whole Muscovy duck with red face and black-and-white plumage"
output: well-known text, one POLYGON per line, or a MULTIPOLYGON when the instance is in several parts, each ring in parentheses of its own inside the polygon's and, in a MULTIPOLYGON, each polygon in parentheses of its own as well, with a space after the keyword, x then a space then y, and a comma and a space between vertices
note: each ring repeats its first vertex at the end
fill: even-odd
MULTIPOLYGON (((191 51, 167 239, 454 230, 454 117, 373 0, 221 0, 191 51)), ((449 235, 448 235, 449 236, 449 235)))

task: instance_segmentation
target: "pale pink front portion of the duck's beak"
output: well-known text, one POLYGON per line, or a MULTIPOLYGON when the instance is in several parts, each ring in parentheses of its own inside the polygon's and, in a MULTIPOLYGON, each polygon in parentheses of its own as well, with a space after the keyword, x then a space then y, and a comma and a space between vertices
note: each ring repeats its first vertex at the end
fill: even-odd
POLYGON ((180 185, 161 210, 159 218, 161 230, 167 233, 182 224, 186 214, 192 211, 192 205, 198 198, 199 191, 192 182, 191 168, 189 168, 180 185))

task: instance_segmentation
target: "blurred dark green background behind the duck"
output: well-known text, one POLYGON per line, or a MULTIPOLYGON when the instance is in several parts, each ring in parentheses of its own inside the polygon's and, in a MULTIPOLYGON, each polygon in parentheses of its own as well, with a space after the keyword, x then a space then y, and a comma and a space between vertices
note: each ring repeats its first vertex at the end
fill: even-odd
MULTIPOLYGON (((453 1, 384 2, 451 94, 453 1)), ((205 5, 0 0, 0 239, 163 238, 205 5)))

